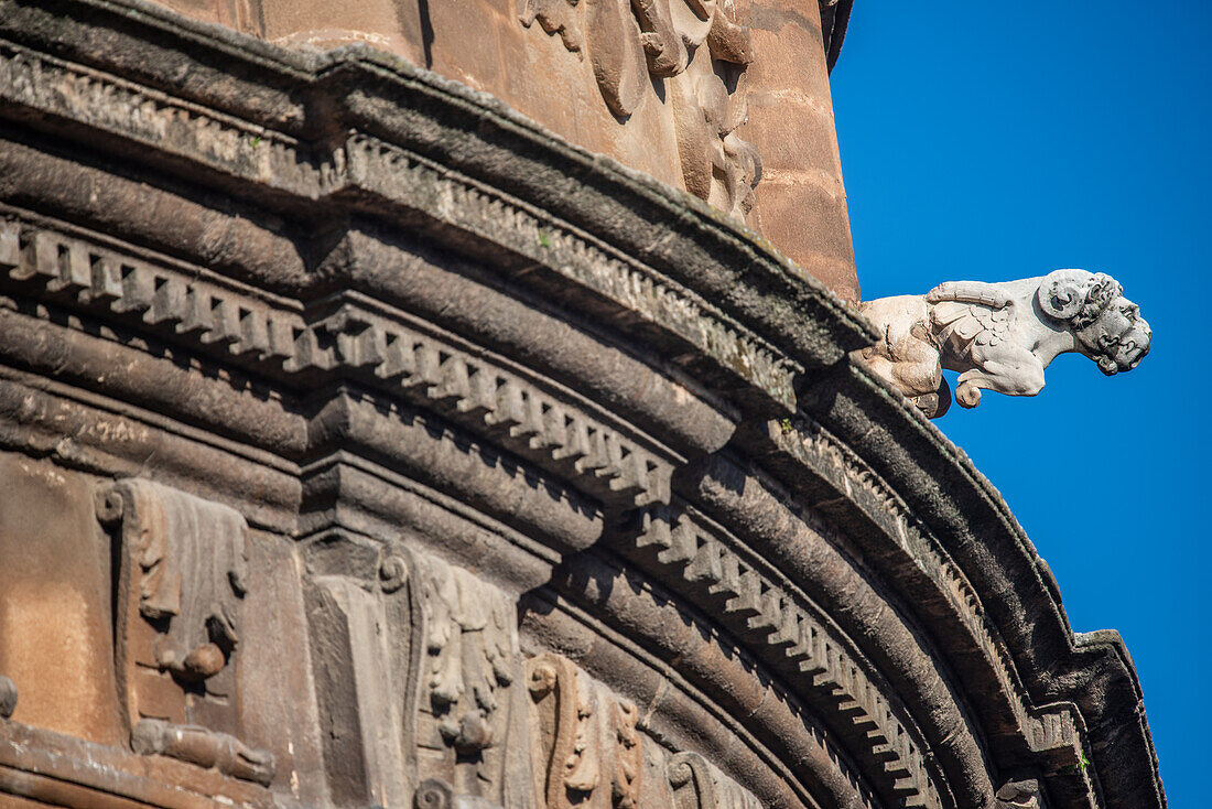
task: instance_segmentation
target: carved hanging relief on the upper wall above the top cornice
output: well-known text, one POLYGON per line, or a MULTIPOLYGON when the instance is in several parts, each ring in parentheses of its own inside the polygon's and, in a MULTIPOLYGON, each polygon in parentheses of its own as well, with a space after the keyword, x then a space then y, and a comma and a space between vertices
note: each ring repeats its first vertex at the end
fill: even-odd
POLYGON ((761 155, 736 135, 747 115, 753 42, 733 0, 526 0, 520 19, 588 52, 598 89, 619 118, 636 110, 650 80, 670 79, 686 189, 730 216, 749 212, 761 155))

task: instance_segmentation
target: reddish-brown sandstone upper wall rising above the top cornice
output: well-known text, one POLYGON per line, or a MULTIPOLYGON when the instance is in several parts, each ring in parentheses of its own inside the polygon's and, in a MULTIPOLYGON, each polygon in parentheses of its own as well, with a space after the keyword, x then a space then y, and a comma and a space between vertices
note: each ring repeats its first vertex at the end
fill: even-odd
POLYGON ((491 93, 572 143, 743 218, 858 300, 829 98, 827 61, 841 39, 835 4, 823 4, 824 30, 817 4, 796 0, 659 0, 635 10, 627 0, 161 5, 296 49, 366 42, 491 93), (662 53, 646 57, 645 47, 662 53))

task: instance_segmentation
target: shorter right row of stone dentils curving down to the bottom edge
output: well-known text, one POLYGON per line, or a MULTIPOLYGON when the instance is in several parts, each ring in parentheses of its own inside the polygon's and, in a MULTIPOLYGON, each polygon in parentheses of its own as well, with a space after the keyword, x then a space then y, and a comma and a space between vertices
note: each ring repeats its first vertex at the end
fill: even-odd
POLYGON ((718 608, 720 622, 772 662, 785 677, 807 683, 828 706, 839 733, 868 757, 880 759, 887 791, 903 807, 942 807, 926 768, 924 744, 902 723, 880 689, 837 638, 715 532, 675 506, 644 509, 628 532, 627 556, 676 574, 667 581, 704 609, 718 608))

